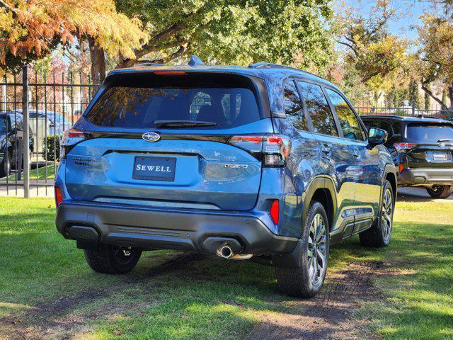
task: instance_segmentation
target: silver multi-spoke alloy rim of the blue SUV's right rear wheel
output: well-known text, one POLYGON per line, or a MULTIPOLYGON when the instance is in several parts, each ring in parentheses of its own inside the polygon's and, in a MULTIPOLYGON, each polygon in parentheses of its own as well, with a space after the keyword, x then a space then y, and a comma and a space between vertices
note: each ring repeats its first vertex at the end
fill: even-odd
POLYGON ((318 285, 326 272, 327 229, 321 214, 311 220, 308 246, 309 278, 313 285, 318 285))

